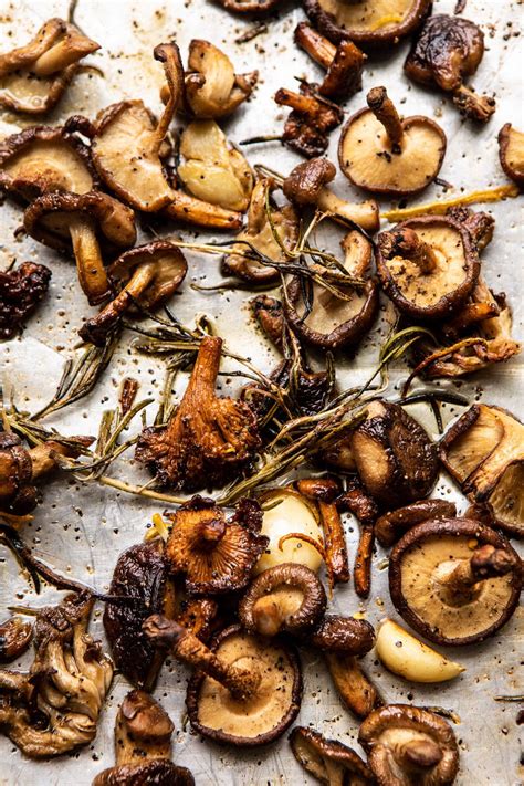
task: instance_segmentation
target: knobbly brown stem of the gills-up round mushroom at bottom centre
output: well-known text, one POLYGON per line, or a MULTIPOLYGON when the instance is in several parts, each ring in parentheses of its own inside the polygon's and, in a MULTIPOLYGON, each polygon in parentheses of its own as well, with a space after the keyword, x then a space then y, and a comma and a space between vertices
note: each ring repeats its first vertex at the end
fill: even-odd
POLYGON ((178 622, 160 615, 151 615, 146 619, 143 628, 149 639, 168 647, 177 660, 203 671, 208 677, 220 682, 234 699, 245 701, 259 688, 261 674, 258 670, 248 671, 226 663, 178 622))

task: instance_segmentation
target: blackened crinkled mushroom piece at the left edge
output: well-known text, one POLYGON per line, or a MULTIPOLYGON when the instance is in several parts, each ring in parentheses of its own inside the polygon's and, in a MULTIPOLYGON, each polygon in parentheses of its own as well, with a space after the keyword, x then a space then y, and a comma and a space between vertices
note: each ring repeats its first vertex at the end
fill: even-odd
POLYGON ((0 339, 12 338, 45 297, 51 271, 44 264, 22 262, 0 271, 0 339))

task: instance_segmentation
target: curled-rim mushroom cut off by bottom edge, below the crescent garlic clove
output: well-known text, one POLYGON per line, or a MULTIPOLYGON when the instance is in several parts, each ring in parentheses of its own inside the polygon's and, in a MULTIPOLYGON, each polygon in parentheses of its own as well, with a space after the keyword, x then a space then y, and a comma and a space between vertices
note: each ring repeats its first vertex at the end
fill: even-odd
POLYGON ((429 710, 387 704, 368 715, 358 742, 379 786, 448 786, 459 771, 449 723, 429 710))

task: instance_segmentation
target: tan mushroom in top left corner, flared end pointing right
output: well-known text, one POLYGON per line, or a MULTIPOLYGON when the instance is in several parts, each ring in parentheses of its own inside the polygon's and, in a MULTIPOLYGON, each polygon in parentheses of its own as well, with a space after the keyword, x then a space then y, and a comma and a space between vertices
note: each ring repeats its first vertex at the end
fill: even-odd
POLYGON ((63 19, 50 19, 25 46, 0 55, 0 106, 30 115, 50 112, 78 63, 99 44, 63 19))

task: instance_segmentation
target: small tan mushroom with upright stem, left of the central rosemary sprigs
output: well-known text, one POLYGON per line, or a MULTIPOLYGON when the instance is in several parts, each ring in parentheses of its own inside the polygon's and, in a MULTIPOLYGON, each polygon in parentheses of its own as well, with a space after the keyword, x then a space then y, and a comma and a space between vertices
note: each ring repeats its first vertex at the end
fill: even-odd
POLYGON ((291 205, 277 207, 270 201, 270 221, 266 199, 274 188, 274 182, 270 178, 261 178, 254 186, 248 211, 248 224, 235 238, 234 252, 222 259, 224 274, 238 275, 244 281, 255 283, 272 283, 279 280, 279 271, 262 264, 253 254, 254 249, 266 260, 283 264, 287 261, 284 249, 292 251, 298 240, 298 217, 291 205), (277 233, 280 242, 275 240, 274 232, 277 233))

